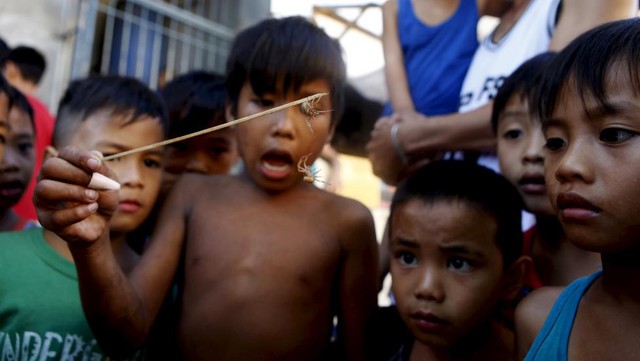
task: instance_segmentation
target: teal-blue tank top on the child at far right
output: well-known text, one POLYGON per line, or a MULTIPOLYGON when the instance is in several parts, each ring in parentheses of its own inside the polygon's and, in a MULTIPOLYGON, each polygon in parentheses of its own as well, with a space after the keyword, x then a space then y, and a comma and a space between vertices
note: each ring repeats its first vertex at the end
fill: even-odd
POLYGON ((547 320, 527 352, 525 361, 566 361, 569 352, 569 336, 578 313, 582 296, 602 271, 573 281, 562 291, 553 304, 547 320))

